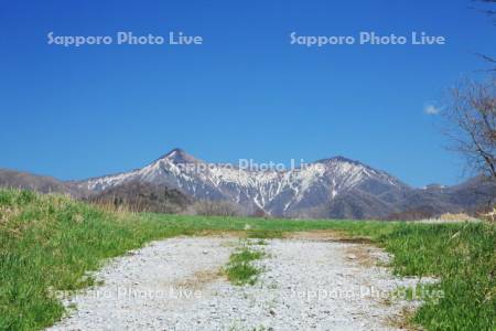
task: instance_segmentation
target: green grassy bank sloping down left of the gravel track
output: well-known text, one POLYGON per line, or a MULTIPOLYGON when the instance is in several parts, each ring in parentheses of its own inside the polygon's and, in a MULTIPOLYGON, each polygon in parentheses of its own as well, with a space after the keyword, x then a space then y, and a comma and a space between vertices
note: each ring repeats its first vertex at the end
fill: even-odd
POLYGON ((85 277, 106 258, 181 226, 109 213, 64 196, 0 191, 0 330, 36 330, 64 313, 54 290, 94 282, 85 277))

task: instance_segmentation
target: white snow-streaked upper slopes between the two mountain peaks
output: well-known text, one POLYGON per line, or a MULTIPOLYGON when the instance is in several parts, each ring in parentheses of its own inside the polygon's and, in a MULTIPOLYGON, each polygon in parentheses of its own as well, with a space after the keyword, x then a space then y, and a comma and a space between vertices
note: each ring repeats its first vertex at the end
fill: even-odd
POLYGON ((385 172, 343 157, 320 160, 285 171, 252 171, 229 164, 207 163, 174 149, 152 163, 130 172, 80 181, 80 188, 100 192, 130 181, 179 189, 195 199, 230 200, 247 209, 287 212, 312 204, 314 195, 334 200, 368 180, 405 186, 385 172))

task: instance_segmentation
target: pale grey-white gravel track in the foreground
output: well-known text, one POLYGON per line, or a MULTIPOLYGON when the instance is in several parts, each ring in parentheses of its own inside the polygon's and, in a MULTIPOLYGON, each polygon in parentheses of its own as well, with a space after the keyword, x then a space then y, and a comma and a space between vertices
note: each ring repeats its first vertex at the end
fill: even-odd
POLYGON ((104 285, 65 299, 76 306, 50 330, 396 330, 412 302, 385 303, 399 279, 363 256, 363 244, 272 239, 255 286, 233 286, 218 271, 237 238, 179 237, 116 258, 97 274, 104 285), (357 250, 358 249, 358 250, 357 250))

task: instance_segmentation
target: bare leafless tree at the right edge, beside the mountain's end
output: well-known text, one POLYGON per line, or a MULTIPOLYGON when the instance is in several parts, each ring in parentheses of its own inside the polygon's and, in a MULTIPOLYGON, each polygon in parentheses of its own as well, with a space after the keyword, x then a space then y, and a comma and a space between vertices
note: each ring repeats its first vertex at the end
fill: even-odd
POLYGON ((496 76, 464 81, 450 93, 443 111, 446 135, 468 168, 496 181, 496 76))

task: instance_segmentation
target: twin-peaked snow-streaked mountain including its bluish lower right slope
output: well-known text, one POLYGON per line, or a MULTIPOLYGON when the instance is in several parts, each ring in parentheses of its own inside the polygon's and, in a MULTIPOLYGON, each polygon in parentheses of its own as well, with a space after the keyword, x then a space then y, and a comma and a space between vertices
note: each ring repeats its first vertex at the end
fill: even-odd
POLYGON ((77 185, 101 192, 132 181, 166 185, 194 199, 228 200, 247 213, 262 210, 279 216, 310 217, 335 216, 336 211, 330 214, 335 209, 337 213, 339 209, 359 209, 345 214, 378 217, 396 211, 392 205, 411 190, 384 171, 343 157, 298 169, 255 171, 207 163, 181 149, 144 168, 79 181, 77 185))

